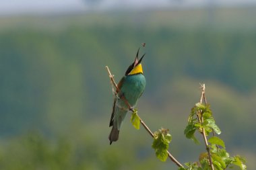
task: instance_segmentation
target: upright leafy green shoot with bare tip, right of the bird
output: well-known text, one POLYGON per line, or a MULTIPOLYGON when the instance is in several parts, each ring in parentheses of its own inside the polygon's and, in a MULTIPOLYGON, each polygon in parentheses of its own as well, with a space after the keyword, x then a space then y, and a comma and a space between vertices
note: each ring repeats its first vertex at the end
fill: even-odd
POLYGON ((191 109, 188 124, 184 130, 186 137, 198 144, 199 141, 195 138, 195 132, 202 134, 207 153, 201 153, 199 163, 185 163, 187 168, 179 168, 179 170, 224 170, 231 168, 232 165, 240 167, 241 170, 247 169, 245 159, 239 155, 230 157, 226 152, 224 141, 215 135, 220 134, 221 131, 212 116, 210 105, 207 104, 205 98, 205 84, 201 85, 200 102, 196 103, 191 109), (207 136, 209 136, 211 132, 213 136, 207 139, 207 136))

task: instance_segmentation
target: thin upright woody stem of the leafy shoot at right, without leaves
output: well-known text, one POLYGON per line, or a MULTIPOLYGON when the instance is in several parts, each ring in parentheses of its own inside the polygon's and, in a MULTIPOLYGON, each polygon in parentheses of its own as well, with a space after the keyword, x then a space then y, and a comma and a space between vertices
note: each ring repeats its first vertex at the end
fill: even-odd
MULTIPOLYGON (((201 91, 202 91, 202 93, 201 93, 200 103, 202 103, 203 100, 204 100, 205 104, 207 104, 206 98, 205 98, 205 84, 204 83, 203 83, 203 85, 201 85, 201 91)), ((202 114, 202 112, 201 112, 201 114, 202 114)), ((201 115, 201 124, 203 124, 203 115, 201 115)), ((207 137, 206 137, 206 134, 205 134, 205 128, 203 128, 202 134, 203 134, 203 140, 205 142, 206 150, 207 150, 207 153, 208 153, 210 166, 211 166, 212 170, 214 170, 214 164, 212 163, 212 156, 211 156, 211 153, 210 153, 209 144, 207 142, 207 137)))

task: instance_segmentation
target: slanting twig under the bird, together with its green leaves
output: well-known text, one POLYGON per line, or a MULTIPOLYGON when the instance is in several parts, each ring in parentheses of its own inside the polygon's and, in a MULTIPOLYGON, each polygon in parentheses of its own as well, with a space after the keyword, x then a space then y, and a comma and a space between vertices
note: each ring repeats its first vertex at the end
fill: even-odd
MULTIPOLYGON (((115 79, 114 79, 113 75, 110 73, 110 70, 108 69, 108 66, 106 66, 106 69, 108 71, 110 81, 116 89, 115 95, 117 95, 117 93, 119 93, 120 89, 117 86, 117 83, 115 83, 115 79)), ((143 122, 143 120, 141 120, 141 118, 137 114, 137 110, 135 110, 131 107, 131 105, 129 104, 129 101, 127 101, 127 99, 125 98, 124 95, 121 96, 121 99, 123 99, 123 101, 125 101, 125 104, 129 108, 129 110, 132 112, 132 114, 131 114, 131 123, 133 124, 133 126, 136 129, 139 129, 139 124, 142 124, 143 128, 145 128, 145 130, 150 134, 150 136, 152 136, 154 138, 154 142, 152 144, 152 147, 155 148, 156 156, 158 157, 158 159, 160 159, 161 161, 165 161, 166 158, 169 157, 170 160, 172 162, 174 162, 178 167, 183 167, 183 165, 181 165, 181 163, 179 163, 179 161, 177 161, 177 159, 175 159, 170 154, 170 152, 167 150, 168 149, 168 143, 171 140, 171 136, 170 136, 170 134, 168 134, 168 130, 162 129, 158 132, 153 133, 150 130, 150 128, 148 128, 148 126, 143 122)))

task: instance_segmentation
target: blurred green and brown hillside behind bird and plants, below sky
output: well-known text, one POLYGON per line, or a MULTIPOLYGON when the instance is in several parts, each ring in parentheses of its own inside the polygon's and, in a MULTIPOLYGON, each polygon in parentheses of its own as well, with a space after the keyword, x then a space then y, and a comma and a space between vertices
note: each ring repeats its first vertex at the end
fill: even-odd
POLYGON ((230 155, 256 159, 256 9, 216 7, 0 17, 0 169, 177 169, 129 115, 108 142, 113 94, 137 48, 147 86, 137 108, 170 152, 197 161, 183 130, 199 83, 230 155))

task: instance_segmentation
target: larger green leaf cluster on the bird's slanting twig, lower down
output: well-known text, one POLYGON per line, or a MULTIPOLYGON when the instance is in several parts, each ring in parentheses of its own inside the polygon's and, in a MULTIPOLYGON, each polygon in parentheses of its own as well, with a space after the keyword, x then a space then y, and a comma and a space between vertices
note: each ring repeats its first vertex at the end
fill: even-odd
POLYGON ((154 141, 152 144, 152 148, 156 151, 156 157, 160 159, 160 161, 166 161, 168 157, 168 144, 172 140, 172 136, 168 134, 167 129, 160 129, 158 132, 154 132, 154 141))

